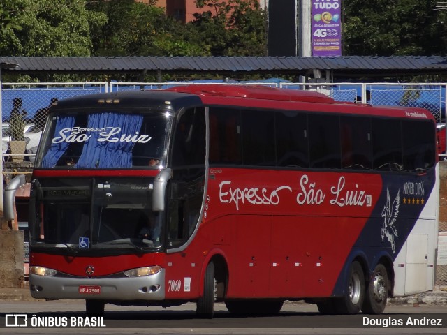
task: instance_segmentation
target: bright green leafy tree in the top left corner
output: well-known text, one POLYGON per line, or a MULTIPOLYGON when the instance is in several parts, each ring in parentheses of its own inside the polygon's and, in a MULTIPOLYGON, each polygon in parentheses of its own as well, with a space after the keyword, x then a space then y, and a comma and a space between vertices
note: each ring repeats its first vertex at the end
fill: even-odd
POLYGON ((0 3, 0 53, 14 56, 89 56, 90 27, 105 23, 86 0, 5 0, 0 3))

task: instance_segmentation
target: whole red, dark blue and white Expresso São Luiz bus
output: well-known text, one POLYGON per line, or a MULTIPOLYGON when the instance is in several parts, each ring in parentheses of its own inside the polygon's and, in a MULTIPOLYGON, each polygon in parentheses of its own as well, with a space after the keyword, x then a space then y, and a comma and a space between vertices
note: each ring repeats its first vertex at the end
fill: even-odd
POLYGON ((236 85, 59 101, 30 198, 31 295, 381 313, 432 290, 436 122, 411 107, 236 85))

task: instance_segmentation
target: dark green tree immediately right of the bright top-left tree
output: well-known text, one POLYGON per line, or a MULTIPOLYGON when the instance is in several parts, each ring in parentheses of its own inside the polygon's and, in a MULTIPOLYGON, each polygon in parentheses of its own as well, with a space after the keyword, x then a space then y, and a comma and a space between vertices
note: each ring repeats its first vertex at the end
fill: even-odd
POLYGON ((108 23, 92 34, 97 56, 191 56, 200 47, 184 40, 184 24, 167 17, 154 2, 89 0, 89 8, 108 17, 108 23))

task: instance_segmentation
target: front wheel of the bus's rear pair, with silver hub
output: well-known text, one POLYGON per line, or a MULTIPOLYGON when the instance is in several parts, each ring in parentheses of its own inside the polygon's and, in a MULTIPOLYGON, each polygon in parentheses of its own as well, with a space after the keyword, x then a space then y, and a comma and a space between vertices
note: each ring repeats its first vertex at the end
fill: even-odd
POLYGON ((353 262, 349 269, 344 297, 335 300, 337 313, 355 314, 362 309, 365 299, 365 275, 359 262, 353 262))

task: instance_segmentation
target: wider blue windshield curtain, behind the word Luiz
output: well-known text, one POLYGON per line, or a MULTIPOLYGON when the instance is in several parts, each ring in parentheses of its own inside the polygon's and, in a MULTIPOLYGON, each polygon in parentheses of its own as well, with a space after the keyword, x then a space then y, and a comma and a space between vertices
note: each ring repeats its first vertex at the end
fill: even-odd
POLYGON ((91 137, 84 144, 82 154, 74 168, 131 168, 132 149, 135 144, 131 137, 140 131, 141 125, 140 115, 117 113, 89 115, 87 128, 99 131, 87 131, 87 135, 91 137), (113 135, 109 137, 110 133, 113 135))

